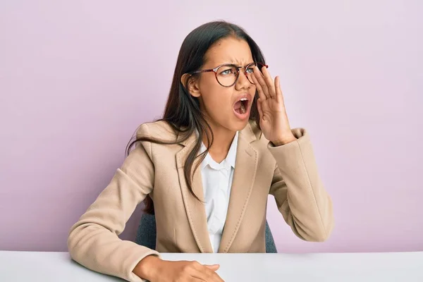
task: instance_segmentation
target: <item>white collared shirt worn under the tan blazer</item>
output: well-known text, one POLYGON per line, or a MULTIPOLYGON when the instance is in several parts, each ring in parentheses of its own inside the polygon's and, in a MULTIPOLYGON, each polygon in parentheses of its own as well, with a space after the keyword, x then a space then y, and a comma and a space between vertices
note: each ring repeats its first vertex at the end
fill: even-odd
MULTIPOLYGON (((217 163, 207 153, 201 163, 202 185, 204 192, 207 227, 213 252, 218 252, 222 238, 223 226, 228 213, 229 197, 235 170, 235 157, 238 147, 238 131, 233 137, 226 159, 217 163)), ((202 143, 200 153, 206 150, 202 143)))

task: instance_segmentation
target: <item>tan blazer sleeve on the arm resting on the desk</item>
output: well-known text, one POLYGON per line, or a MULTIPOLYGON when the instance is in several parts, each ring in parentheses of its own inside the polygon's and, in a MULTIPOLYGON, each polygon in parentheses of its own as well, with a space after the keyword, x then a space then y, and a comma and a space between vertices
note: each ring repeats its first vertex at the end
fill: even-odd
MULTIPOLYGON (((137 130, 139 135, 148 135, 146 124, 137 130)), ((159 257, 159 252, 121 240, 118 235, 153 186, 152 144, 138 142, 109 185, 71 227, 68 250, 72 259, 102 274, 126 281, 145 281, 132 271, 141 259, 147 255, 159 257)))

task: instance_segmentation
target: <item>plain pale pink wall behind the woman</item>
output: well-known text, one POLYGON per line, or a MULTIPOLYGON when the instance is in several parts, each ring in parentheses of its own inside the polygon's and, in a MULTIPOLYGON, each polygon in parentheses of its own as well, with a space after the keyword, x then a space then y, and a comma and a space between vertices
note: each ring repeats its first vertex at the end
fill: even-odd
POLYGON ((215 19, 245 27, 281 75, 333 197, 326 243, 295 238, 269 198, 279 252, 423 250, 422 11, 417 0, 1 1, 0 250, 67 250, 137 125, 161 116, 183 39, 215 19))

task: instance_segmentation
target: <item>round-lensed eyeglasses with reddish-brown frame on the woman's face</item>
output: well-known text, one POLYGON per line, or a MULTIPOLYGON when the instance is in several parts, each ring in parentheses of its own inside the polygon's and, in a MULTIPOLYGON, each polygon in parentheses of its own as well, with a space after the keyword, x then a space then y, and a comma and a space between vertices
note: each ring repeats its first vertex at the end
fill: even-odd
POLYGON ((231 87, 235 85, 235 83, 238 81, 238 78, 240 77, 240 68, 244 68, 244 74, 248 81, 250 81, 251 84, 254 84, 254 82, 252 82, 252 75, 254 73, 255 66, 259 68, 259 71, 262 71, 264 66, 269 68, 269 66, 265 65, 264 63, 257 62, 249 63, 245 67, 236 66, 233 63, 225 63, 223 65, 216 66, 216 68, 210 68, 209 70, 192 71, 190 74, 193 75, 195 73, 214 72, 216 80, 220 85, 223 87, 231 87))

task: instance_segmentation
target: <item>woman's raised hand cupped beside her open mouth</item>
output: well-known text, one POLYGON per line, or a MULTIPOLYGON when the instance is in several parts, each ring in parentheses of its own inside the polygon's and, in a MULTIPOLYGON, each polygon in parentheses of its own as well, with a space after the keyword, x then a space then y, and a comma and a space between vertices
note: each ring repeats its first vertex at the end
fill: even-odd
POLYGON ((256 66, 252 80, 259 92, 257 108, 264 137, 276 146, 296 140, 286 115, 279 77, 273 80, 266 67, 259 71, 256 66))

